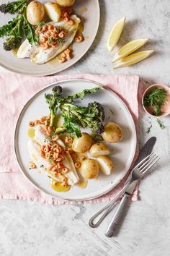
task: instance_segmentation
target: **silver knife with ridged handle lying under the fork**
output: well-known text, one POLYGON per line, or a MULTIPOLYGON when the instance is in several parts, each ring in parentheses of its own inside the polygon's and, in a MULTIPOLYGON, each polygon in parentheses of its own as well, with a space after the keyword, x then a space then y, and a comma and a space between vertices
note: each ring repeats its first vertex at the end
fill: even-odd
MULTIPOLYGON (((146 158, 147 155, 151 154, 153 147, 156 143, 156 137, 151 137, 146 144, 143 146, 143 148, 140 150, 140 153, 138 155, 137 160, 135 161, 135 164, 133 166, 133 168, 135 166, 137 166, 138 163, 140 163, 140 161, 143 160, 143 158, 146 158)), ((133 191, 136 187, 136 185, 138 184, 137 182, 133 182, 130 187, 128 187, 128 189, 126 189, 124 196, 122 197, 122 200, 120 201, 120 204, 118 205, 116 211, 115 211, 115 215, 113 216, 112 220, 109 223, 109 226, 105 232, 105 235, 107 237, 112 237, 113 234, 115 233, 118 224, 120 223, 120 220, 122 218, 122 213, 125 212, 125 207, 127 205, 127 202, 129 200, 129 197, 131 195, 133 195, 133 191)))

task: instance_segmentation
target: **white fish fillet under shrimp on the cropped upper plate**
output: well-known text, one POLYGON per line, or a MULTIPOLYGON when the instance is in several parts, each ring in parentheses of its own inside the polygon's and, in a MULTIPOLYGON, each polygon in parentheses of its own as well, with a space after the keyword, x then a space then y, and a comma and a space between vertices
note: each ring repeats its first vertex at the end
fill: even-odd
MULTIPOLYGON (((32 62, 35 64, 43 64, 50 59, 53 59, 55 56, 64 51, 68 46, 72 43, 74 36, 76 35, 76 31, 79 27, 79 23, 81 20, 76 15, 71 15, 71 19, 73 20, 73 25, 68 25, 68 22, 61 20, 60 22, 50 22, 56 27, 62 27, 67 30, 66 39, 64 43, 58 43, 56 48, 48 48, 47 50, 43 50, 40 46, 31 46, 28 40, 24 40, 22 45, 19 47, 17 51, 17 58, 28 58, 30 57, 32 62)), ((40 35, 41 36, 41 35, 40 35)))

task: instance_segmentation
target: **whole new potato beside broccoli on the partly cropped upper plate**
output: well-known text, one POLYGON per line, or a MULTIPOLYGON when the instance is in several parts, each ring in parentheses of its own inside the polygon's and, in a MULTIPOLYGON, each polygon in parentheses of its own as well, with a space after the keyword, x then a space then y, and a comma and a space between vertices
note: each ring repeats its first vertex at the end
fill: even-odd
POLYGON ((44 6, 40 1, 31 1, 27 6, 27 20, 31 25, 43 20, 45 14, 44 6))

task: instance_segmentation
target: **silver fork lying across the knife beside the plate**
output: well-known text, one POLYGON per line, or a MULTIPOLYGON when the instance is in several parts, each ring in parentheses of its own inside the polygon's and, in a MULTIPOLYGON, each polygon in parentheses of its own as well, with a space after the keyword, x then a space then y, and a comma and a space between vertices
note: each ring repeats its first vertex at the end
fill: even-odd
POLYGON ((130 173, 130 178, 128 179, 128 182, 125 184, 125 187, 123 187, 120 192, 106 205, 104 208, 99 210, 94 216, 92 216, 89 219, 89 226, 91 228, 96 228, 99 226, 99 224, 103 221, 103 219, 107 216, 107 214, 112 210, 115 202, 117 199, 125 192, 125 190, 135 182, 136 180, 139 180, 143 178, 143 176, 147 173, 147 171, 159 160, 158 156, 154 153, 151 153, 150 155, 146 156, 140 163, 138 163, 135 168, 133 168, 133 171, 130 173), (97 223, 94 223, 94 220, 101 214, 104 214, 99 218, 97 223))

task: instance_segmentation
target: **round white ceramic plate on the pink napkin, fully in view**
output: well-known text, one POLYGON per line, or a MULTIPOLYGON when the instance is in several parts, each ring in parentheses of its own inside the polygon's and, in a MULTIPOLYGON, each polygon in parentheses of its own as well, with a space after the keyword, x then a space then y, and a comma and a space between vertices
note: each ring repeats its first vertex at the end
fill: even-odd
MULTIPOLYGON (((63 87, 63 92, 71 94, 97 85, 97 83, 89 80, 66 80, 58 82, 58 84, 63 87)), ((61 197, 67 200, 83 200, 104 195, 120 182, 133 161, 136 148, 136 132, 133 118, 125 103, 111 90, 102 88, 97 93, 86 95, 82 102, 85 106, 91 101, 102 103, 106 113, 105 121, 115 121, 122 127, 123 140, 115 144, 109 143, 109 148, 112 150, 110 157, 114 162, 115 169, 109 176, 105 176, 100 172, 99 179, 90 180, 86 189, 75 185, 68 192, 55 192, 50 187, 50 179, 45 173, 38 174, 36 170, 29 170, 30 155, 27 150, 28 122, 49 114, 44 94, 49 93, 52 88, 53 84, 48 85, 47 88, 35 94, 24 106, 19 116, 14 138, 15 153, 19 166, 35 187, 53 197, 61 197), (112 111, 114 114, 112 114, 112 111)))

